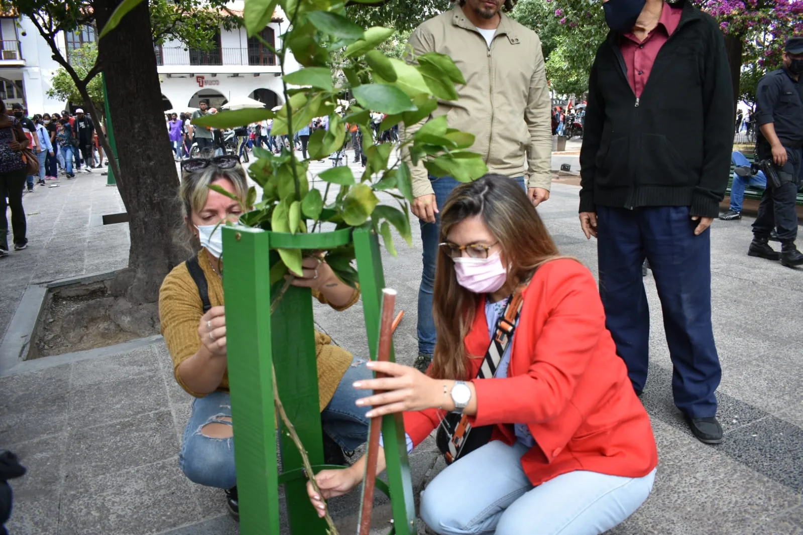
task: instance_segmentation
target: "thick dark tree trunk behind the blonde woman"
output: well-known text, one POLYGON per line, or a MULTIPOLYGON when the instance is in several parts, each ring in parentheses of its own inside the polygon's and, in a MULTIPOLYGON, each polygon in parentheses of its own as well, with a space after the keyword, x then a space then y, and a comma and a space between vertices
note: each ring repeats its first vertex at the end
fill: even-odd
MULTIPOLYGON (((119 3, 92 2, 99 29, 119 3)), ((128 211, 131 237, 128 270, 116 282, 125 289, 129 302, 156 302, 162 279, 185 260, 187 252, 173 241, 181 225, 179 180, 161 112, 148 2, 141 2, 100 39, 98 61, 106 75, 120 160, 120 176, 115 178, 128 211)))

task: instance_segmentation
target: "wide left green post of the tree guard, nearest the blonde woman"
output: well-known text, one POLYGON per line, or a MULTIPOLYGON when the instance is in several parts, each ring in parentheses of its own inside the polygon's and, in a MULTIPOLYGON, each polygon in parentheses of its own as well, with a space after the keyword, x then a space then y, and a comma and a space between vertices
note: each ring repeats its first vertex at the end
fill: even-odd
POLYGON ((279 533, 269 237, 260 229, 224 227, 223 249, 240 533, 279 533))

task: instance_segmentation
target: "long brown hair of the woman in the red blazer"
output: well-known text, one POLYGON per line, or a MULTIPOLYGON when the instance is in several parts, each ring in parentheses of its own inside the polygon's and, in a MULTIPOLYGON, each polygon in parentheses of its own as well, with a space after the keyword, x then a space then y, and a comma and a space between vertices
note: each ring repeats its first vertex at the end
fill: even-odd
MULTIPOLYGON (((516 286, 528 282, 538 266, 559 256, 544 222, 516 180, 489 174, 454 188, 441 210, 440 241, 446 241, 454 225, 474 216, 482 218, 499 241, 501 255, 509 266, 503 288, 511 293, 516 286)), ((438 248, 433 299, 438 343, 430 375, 437 379, 470 379, 470 355, 463 340, 471 330, 480 298, 458 284, 454 262, 438 248)))

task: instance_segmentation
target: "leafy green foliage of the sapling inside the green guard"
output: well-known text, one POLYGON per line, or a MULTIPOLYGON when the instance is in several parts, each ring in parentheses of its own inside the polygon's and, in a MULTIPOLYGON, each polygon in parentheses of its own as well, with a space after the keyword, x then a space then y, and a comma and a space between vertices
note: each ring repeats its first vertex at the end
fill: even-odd
MULTIPOLYGON (((264 0, 247 2, 253 2, 257 9, 248 10, 246 4, 246 27, 258 27, 250 24, 249 18, 259 18, 273 6, 264 0)), ((255 191, 249 193, 255 201, 254 210, 244 214, 240 222, 293 234, 315 232, 324 222, 334 223, 337 228, 366 226, 381 234, 385 247, 395 254, 390 226, 412 243, 408 210, 413 201, 410 168, 406 162, 391 160, 395 148, 392 143, 373 143, 370 112, 387 114, 381 126, 384 129, 399 123, 418 123, 438 106, 438 99, 457 99, 454 84, 466 83, 465 79, 446 55, 419 56, 415 66, 392 57, 404 53, 403 35, 381 26, 363 30, 347 18, 342 4, 336 0, 281 0, 280 4, 291 26, 284 35, 283 47, 277 51, 279 64, 283 69, 283 59, 292 52, 304 67, 289 74, 282 71, 286 103, 276 113, 264 109, 224 111, 198 118, 194 124, 228 128, 272 117, 271 133, 292 138, 313 117, 328 116, 328 130, 316 130, 309 138, 308 160, 298 160, 295 152, 286 148, 279 155, 255 149, 259 159, 248 172, 263 188, 263 195, 258 201, 255 191), (394 36, 396 39, 390 41, 394 36), (382 53, 381 48, 389 54, 382 53), (340 63, 344 74, 337 85, 328 75, 334 62, 340 63), (300 89, 290 90, 288 84, 300 89), (337 99, 342 92, 350 92, 357 103, 338 113, 337 99), (320 173, 319 178, 327 183, 322 195, 310 187, 309 164, 344 146, 347 123, 360 128, 368 163, 360 176, 355 176, 348 167, 320 173), (393 197, 397 207, 380 205, 377 197, 380 191, 393 197)), ((461 181, 473 180, 487 172, 482 157, 468 151, 472 144, 474 136, 448 128, 446 117, 428 121, 413 139, 404 142, 414 164, 421 161, 430 174, 454 176, 461 181)), ((219 193, 226 194, 225 190, 219 193)), ((300 273, 302 250, 278 249, 278 253, 287 269, 300 273)), ((328 262, 340 278, 353 282, 356 273, 349 264, 353 248, 335 252, 334 258, 342 261, 333 263, 330 257, 332 253, 328 262)), ((283 273, 271 275, 279 280, 283 273)))

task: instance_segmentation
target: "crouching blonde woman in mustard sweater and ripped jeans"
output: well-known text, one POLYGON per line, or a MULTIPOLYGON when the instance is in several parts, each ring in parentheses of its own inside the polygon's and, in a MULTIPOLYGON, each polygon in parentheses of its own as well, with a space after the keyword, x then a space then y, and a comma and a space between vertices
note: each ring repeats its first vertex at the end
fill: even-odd
MULTIPOLYGON (((210 190, 218 185, 243 202, 246 174, 237 156, 185 160, 179 195, 187 229, 202 245, 198 265, 208 286, 211 308, 204 312, 198 286, 186 262, 165 277, 159 292, 161 332, 165 336, 178 384, 195 396, 184 432, 179 464, 190 480, 226 489, 230 512, 238 513, 234 472, 229 378, 226 372, 226 317, 223 313, 221 221, 236 221, 240 204, 210 190)), ((304 259, 304 273, 292 282, 312 288, 318 301, 345 310, 360 298, 358 290, 336 277, 319 257, 304 259)), ((358 391, 351 385, 372 374, 363 361, 316 332, 318 391, 328 463, 343 463, 340 448, 353 450, 365 442, 366 407, 355 404, 358 391)))

